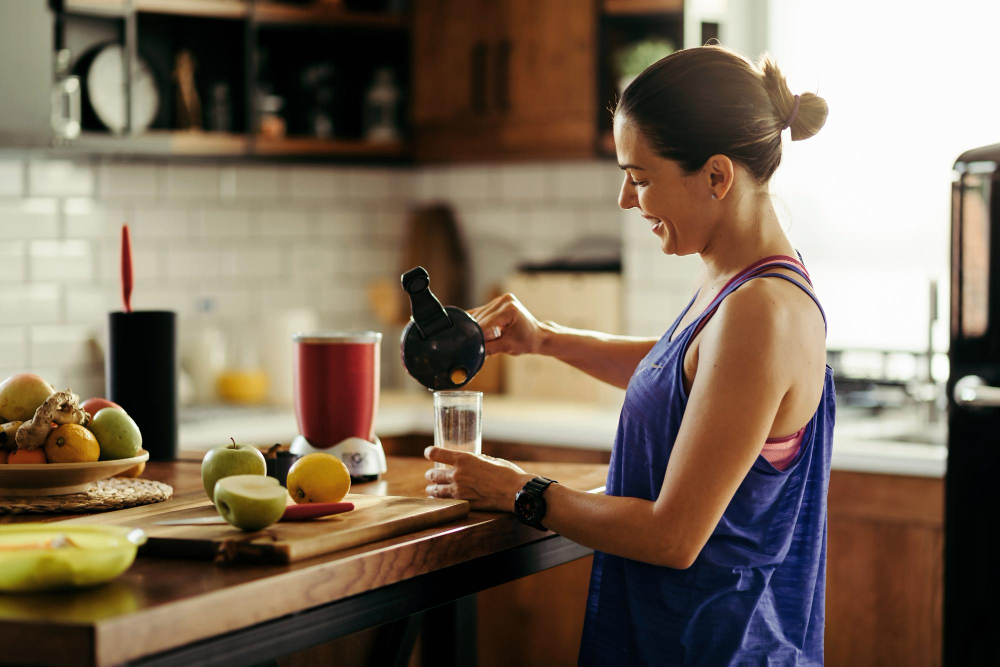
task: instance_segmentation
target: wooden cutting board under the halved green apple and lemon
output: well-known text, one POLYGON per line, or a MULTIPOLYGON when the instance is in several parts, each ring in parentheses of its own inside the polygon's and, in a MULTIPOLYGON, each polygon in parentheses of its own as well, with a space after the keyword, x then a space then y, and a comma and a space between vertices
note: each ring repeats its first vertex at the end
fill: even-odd
POLYGON ((142 549, 143 554, 211 559, 220 564, 235 561, 291 563, 412 533, 469 514, 468 501, 445 498, 349 493, 344 502, 354 503, 354 509, 322 519, 282 521, 254 533, 243 532, 229 524, 156 525, 157 521, 218 516, 212 503, 201 494, 112 514, 70 519, 70 522, 142 528, 149 538, 142 549))

